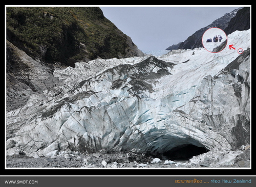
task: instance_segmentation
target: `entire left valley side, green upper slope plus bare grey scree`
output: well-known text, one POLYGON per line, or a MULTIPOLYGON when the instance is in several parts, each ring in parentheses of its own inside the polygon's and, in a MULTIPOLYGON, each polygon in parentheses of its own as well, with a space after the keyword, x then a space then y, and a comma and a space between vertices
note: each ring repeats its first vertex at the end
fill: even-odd
POLYGON ((98 7, 7 7, 6 14, 7 111, 54 90, 57 69, 144 55, 98 7))

